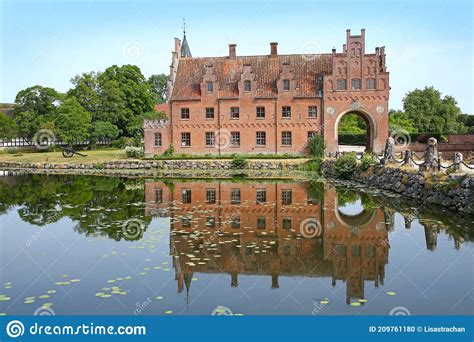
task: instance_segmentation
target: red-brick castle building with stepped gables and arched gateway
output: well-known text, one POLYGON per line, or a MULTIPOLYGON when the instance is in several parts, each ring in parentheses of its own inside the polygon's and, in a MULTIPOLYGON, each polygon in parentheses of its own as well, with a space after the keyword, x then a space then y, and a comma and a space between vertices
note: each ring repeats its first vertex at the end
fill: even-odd
POLYGON ((327 150, 337 151, 337 126, 349 112, 368 124, 368 149, 383 149, 384 47, 366 54, 365 30, 347 30, 340 53, 279 55, 277 43, 270 46, 264 56, 238 56, 231 44, 227 57, 193 58, 182 56, 175 39, 169 102, 157 106, 170 119, 145 123, 145 153, 170 144, 176 153, 304 153, 311 134, 323 134, 327 150))

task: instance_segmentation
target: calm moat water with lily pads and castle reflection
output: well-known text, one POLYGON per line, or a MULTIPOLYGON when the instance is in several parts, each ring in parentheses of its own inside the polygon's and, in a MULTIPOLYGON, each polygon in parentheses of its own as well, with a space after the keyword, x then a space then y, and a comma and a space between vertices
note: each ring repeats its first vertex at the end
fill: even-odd
POLYGON ((473 231, 318 181, 3 175, 0 314, 472 315, 473 231))

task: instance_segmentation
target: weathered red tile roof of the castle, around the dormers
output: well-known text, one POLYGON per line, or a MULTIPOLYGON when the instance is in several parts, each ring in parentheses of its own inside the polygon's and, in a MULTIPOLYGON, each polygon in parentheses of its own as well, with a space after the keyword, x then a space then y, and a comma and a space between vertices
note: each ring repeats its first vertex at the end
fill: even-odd
POLYGON ((183 58, 179 61, 178 71, 171 100, 199 100, 200 85, 206 72, 206 65, 214 68, 219 82, 219 97, 238 97, 238 82, 243 65, 251 65, 257 82, 257 97, 276 97, 277 81, 282 65, 289 63, 290 71, 296 81, 296 96, 317 96, 317 74, 332 73, 332 55, 278 55, 265 56, 183 58))

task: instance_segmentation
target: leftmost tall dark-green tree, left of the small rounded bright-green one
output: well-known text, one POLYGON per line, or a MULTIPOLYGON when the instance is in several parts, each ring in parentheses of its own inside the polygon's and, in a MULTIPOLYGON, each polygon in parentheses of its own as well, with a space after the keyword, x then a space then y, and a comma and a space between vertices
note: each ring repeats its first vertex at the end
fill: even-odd
POLYGON ((62 96, 53 88, 39 85, 18 92, 15 98, 14 119, 19 134, 31 138, 53 122, 62 96))

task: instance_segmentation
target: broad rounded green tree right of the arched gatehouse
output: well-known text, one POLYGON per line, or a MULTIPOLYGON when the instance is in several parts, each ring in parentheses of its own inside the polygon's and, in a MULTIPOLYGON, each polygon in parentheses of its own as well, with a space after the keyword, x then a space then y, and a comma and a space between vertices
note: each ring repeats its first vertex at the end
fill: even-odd
POLYGON ((456 100, 449 95, 441 97, 441 92, 433 87, 409 92, 403 99, 403 109, 418 132, 447 135, 466 131, 456 100))

